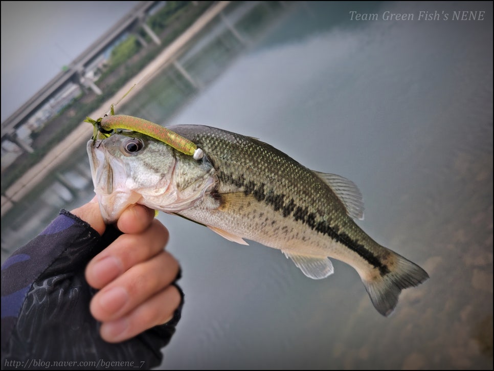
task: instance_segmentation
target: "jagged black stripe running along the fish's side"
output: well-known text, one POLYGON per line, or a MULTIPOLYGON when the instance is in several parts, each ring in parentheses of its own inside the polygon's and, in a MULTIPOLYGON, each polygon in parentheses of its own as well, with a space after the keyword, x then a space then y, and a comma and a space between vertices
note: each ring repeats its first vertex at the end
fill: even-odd
POLYGON ((276 194, 272 189, 265 193, 265 184, 261 183, 257 188, 253 181, 245 182, 245 178, 240 176, 239 178, 233 178, 232 176, 220 171, 218 178, 227 184, 233 184, 236 187, 244 187, 244 194, 252 194, 258 202, 264 201, 267 205, 270 205, 275 211, 282 211, 283 217, 288 217, 293 215, 294 220, 301 221, 306 224, 311 229, 326 234, 334 241, 341 243, 348 247, 350 250, 354 251, 362 258, 368 261, 368 263, 375 268, 379 269, 381 276, 384 276, 390 272, 388 266, 381 263, 379 258, 375 256, 371 251, 366 249, 364 245, 359 244, 354 239, 352 239, 345 232, 339 232, 338 226, 331 227, 327 221, 317 222, 317 215, 313 212, 309 212, 307 207, 302 208, 295 204, 294 199, 290 199, 288 202, 284 202, 285 194, 276 194))

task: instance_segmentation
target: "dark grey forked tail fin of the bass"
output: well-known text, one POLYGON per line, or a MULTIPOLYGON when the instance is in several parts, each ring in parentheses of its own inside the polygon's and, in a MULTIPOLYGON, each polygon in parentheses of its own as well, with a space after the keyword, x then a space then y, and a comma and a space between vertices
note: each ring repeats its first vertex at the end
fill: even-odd
POLYGON ((372 280, 362 279, 374 308, 386 317, 393 313, 401 290, 418 286, 429 278, 427 272, 410 260, 398 254, 394 258, 396 263, 389 273, 372 280))

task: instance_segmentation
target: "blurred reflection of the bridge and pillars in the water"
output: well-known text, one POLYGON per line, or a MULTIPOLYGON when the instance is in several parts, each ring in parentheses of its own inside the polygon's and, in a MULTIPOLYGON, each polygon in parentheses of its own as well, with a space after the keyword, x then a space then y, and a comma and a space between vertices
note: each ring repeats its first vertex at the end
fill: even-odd
MULTIPOLYGON (((232 2, 139 95, 119 106, 120 112, 164 122, 290 8, 280 2, 232 2)), ((93 195, 84 144, 2 217, 2 261, 44 229, 60 208, 71 209, 93 195)))

